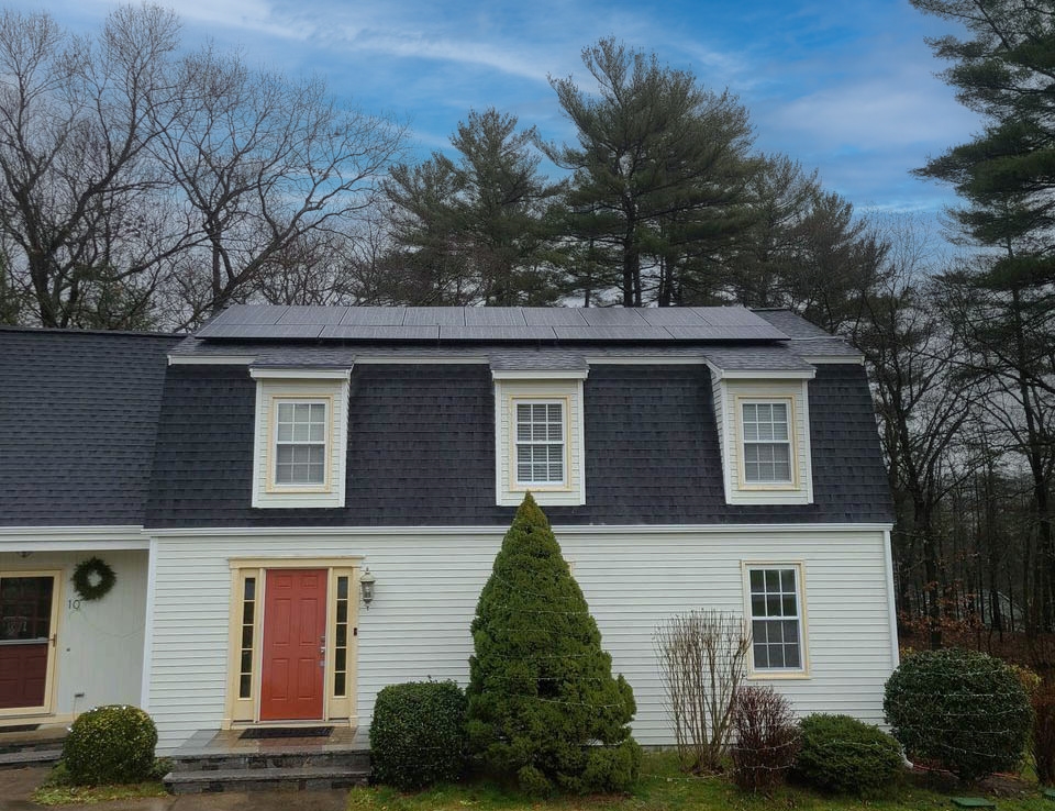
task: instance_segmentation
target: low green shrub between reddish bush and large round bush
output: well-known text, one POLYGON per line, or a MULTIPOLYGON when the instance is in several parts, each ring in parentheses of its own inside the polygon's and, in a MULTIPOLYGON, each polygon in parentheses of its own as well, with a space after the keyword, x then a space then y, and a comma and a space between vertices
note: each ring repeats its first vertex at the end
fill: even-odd
POLYGON ((800 732, 795 774, 810 786, 869 796, 889 786, 901 770, 898 742, 849 715, 808 715, 800 732))

